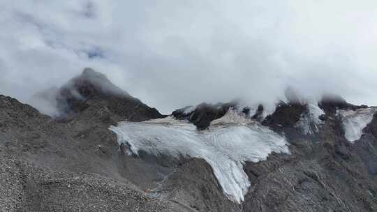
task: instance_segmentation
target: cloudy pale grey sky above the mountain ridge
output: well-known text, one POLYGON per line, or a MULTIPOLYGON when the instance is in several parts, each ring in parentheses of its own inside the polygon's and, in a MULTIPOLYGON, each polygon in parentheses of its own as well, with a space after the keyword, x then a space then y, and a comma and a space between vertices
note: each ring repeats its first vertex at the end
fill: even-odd
POLYGON ((91 67, 168 114, 293 86, 377 105, 377 1, 1 0, 0 93, 91 67))

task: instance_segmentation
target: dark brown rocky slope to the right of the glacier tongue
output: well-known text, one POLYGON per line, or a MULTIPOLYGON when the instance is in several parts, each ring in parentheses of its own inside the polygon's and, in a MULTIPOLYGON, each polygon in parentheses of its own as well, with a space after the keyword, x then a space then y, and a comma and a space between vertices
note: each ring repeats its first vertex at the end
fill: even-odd
POLYGON ((293 128, 304 111, 297 103, 279 105, 267 117, 264 124, 286 135, 292 154, 273 153, 266 161, 246 163, 253 188, 244 211, 377 211, 377 140, 371 130, 377 116, 360 141, 350 144, 335 111, 360 107, 332 99, 320 105, 326 121, 315 135, 293 128))

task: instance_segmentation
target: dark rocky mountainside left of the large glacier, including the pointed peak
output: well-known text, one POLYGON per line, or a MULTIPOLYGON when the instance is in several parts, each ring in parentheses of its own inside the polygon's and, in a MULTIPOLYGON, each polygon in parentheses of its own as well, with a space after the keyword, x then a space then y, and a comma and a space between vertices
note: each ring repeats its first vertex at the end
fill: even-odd
POLYGON ((87 74, 73 79, 80 96, 60 90, 60 104, 68 105, 63 119, 0 96, 2 211, 239 211, 202 160, 121 152, 110 125, 163 115, 126 93, 83 82, 87 74), (180 180, 193 169, 189 181, 180 180), (161 187, 167 175, 173 188, 161 187))

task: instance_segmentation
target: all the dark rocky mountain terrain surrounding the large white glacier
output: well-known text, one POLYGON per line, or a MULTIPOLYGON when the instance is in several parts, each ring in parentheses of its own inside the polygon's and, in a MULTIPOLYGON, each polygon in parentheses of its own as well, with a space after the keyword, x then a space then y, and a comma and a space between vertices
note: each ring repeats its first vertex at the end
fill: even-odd
POLYGON ((288 94, 271 113, 231 102, 171 114, 203 132, 242 116, 285 137, 290 153, 244 162, 250 186, 239 203, 202 158, 119 145, 110 126, 166 116, 94 70, 54 91, 57 117, 0 96, 0 211, 377 211, 377 115, 360 135, 345 128, 374 108, 288 94))

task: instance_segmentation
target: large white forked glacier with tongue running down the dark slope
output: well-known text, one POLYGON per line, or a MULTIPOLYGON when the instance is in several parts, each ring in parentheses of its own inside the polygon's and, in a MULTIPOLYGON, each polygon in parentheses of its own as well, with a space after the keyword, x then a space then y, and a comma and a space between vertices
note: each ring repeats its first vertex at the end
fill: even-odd
POLYGON ((119 144, 127 143, 136 155, 143 150, 155 156, 205 159, 223 192, 238 203, 251 185, 243 169, 245 161, 266 160, 272 151, 289 153, 284 137, 256 122, 219 124, 198 131, 191 123, 168 117, 140 123, 124 121, 110 130, 117 134, 119 144))

